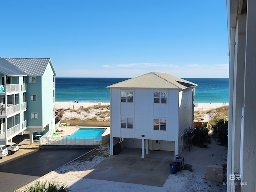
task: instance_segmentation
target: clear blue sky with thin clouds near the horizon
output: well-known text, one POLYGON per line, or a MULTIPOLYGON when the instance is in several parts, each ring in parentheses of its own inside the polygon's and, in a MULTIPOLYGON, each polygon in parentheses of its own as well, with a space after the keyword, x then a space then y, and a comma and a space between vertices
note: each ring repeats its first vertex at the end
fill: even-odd
POLYGON ((226 0, 0 0, 0 57, 57 77, 228 78, 226 0))

